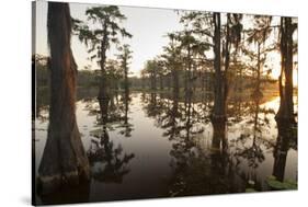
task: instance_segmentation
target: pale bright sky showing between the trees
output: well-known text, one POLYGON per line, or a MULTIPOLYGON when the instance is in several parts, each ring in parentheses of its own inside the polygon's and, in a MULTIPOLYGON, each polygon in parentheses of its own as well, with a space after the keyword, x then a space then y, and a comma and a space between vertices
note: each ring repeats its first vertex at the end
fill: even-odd
MULTIPOLYGON (((47 45, 47 2, 37 1, 36 8, 36 46, 35 53, 41 55, 48 55, 47 45)), ((89 3, 69 3, 70 14, 75 19, 87 22, 85 10, 98 4, 89 3)), ((181 31, 183 25, 179 23, 180 15, 170 9, 151 9, 151 8, 138 8, 138 7, 118 7, 119 11, 127 18, 122 22, 122 26, 127 32, 133 34, 133 38, 121 38, 121 43, 128 43, 133 50, 133 59, 130 60, 130 76, 139 76, 140 70, 144 68, 145 62, 155 58, 162 53, 162 47, 168 44, 167 33, 181 31)), ((223 20, 221 20, 223 21, 223 20)), ((244 15, 243 25, 246 27, 252 26, 252 15, 244 15)), ((273 19, 273 24, 278 24, 280 18, 273 19)), ((275 41, 272 35, 271 41, 275 41)), ((99 69, 95 61, 90 61, 87 53, 87 47, 82 44, 77 36, 72 35, 71 48, 75 59, 78 65, 78 69, 84 69, 87 66, 91 66, 91 69, 99 69)), ((118 51, 115 47, 106 53, 107 58, 116 58, 115 54, 118 51)), ((213 55, 212 55, 213 56, 213 55)), ((266 65, 273 68, 272 77, 277 78, 280 76, 280 54, 271 53, 267 55, 266 65)), ((295 71, 294 82, 297 83, 297 71, 295 71)))

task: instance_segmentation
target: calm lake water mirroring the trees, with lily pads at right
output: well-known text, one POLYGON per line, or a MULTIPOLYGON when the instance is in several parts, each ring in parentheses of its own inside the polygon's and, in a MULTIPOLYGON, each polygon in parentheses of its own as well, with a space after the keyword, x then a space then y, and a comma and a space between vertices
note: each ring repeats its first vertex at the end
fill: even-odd
MULTIPOLYGON (((208 95, 185 99, 132 92, 127 97, 117 93, 100 105, 95 94, 79 92, 76 102, 91 164, 90 183, 47 197, 36 195, 38 204, 244 193, 247 188, 264 192, 272 189, 266 180, 274 172, 297 182, 297 139, 289 141, 282 162, 275 156, 282 149, 274 119, 280 104, 276 95, 258 102, 230 100, 227 150, 221 152, 213 148, 208 95)), ((47 138, 46 100, 37 96, 35 176, 47 138)))

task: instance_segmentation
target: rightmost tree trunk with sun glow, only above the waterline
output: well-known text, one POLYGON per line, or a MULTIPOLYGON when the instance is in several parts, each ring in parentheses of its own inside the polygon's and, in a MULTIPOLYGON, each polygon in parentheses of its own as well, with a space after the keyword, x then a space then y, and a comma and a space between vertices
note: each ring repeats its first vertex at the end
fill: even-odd
POLYGON ((293 32, 292 18, 281 19, 281 56, 282 69, 280 76, 281 105, 276 120, 294 119, 293 103, 293 32))

